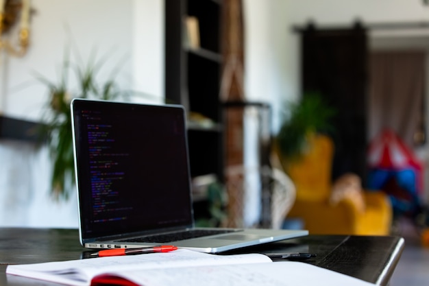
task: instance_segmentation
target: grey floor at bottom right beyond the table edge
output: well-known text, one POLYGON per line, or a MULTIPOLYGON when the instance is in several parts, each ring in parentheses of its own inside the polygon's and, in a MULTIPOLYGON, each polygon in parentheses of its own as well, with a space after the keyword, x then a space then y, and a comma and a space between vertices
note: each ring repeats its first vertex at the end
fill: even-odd
POLYGON ((418 231, 406 220, 400 222, 397 235, 404 237, 405 248, 390 286, 429 285, 429 247, 421 246, 418 231))

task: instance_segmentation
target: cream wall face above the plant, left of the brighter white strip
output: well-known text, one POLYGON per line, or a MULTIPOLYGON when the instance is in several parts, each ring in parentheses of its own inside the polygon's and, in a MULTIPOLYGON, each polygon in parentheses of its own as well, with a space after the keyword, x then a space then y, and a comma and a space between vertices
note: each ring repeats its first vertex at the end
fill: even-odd
MULTIPOLYGON (((1 68, 7 80, 2 82, 1 110, 12 117, 37 120, 47 102, 47 93, 35 73, 59 82, 66 46, 82 53, 85 63, 92 49, 99 58, 114 50, 112 58, 106 61, 106 68, 116 64, 125 53, 132 55, 132 17, 127 16, 132 12, 132 1, 119 5, 114 0, 34 0, 32 6, 36 12, 32 16, 27 55, 14 58, 3 54, 6 58, 1 68)), ((130 66, 130 62, 126 62, 123 69, 130 71, 130 66)), ((118 80, 121 84, 130 82, 125 77, 118 80)), ((71 88, 74 85, 69 83, 71 88)))

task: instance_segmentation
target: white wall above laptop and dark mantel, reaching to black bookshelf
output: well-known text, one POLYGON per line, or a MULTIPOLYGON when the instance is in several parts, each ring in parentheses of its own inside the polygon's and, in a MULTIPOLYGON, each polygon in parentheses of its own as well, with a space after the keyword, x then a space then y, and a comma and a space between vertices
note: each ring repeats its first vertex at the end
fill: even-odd
MULTIPOLYGON (((33 0, 32 7, 28 53, 23 58, 1 53, 0 112, 40 119, 47 93, 36 74, 59 82, 66 47, 73 62, 83 62, 80 67, 103 59, 101 82, 119 65, 115 79, 121 88, 162 97, 162 0, 33 0)), ((16 35, 9 35, 13 43, 16 35)))

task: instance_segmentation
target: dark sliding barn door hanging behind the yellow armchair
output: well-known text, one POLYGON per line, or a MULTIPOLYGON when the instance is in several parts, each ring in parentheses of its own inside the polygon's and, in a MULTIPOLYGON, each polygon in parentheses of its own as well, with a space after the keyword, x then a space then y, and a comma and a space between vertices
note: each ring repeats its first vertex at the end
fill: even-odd
POLYGON ((367 36, 365 29, 302 32, 302 91, 336 108, 332 176, 354 172, 365 181, 367 36))

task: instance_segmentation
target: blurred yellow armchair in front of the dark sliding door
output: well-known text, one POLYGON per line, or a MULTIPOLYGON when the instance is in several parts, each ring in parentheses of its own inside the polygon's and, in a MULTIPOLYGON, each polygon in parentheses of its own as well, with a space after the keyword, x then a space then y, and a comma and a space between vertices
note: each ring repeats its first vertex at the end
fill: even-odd
POLYGON ((344 193, 332 203, 331 166, 334 144, 330 137, 315 134, 308 139, 303 158, 282 165, 296 187, 296 200, 287 215, 299 218, 311 234, 388 235, 392 209, 380 191, 344 193))

